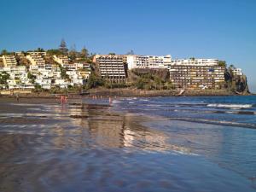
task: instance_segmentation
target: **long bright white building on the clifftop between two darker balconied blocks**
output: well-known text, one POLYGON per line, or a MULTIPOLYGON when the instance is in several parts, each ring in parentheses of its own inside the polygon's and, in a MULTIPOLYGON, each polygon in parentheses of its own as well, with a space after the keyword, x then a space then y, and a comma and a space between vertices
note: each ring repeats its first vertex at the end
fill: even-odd
POLYGON ((172 57, 155 55, 125 55, 128 69, 132 68, 170 68, 172 57))

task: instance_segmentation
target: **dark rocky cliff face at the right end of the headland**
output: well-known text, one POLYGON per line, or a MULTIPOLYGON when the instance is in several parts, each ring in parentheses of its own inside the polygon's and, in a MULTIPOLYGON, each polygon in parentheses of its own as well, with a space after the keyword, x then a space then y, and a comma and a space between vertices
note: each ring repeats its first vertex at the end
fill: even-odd
POLYGON ((242 95, 250 93, 246 75, 235 75, 230 68, 227 68, 224 76, 227 90, 242 95))

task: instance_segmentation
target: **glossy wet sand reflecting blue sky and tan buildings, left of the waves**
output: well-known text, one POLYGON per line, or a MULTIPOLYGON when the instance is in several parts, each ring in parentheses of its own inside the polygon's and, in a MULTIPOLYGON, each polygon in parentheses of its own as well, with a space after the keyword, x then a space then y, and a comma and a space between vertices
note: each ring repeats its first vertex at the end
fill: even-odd
POLYGON ((161 118, 68 102, 0 98, 1 192, 253 191, 144 125, 161 118))

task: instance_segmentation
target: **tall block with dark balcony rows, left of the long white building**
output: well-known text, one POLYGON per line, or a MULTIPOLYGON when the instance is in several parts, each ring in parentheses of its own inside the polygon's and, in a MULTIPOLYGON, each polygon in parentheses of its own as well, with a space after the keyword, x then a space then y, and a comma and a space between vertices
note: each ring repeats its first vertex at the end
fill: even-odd
POLYGON ((103 79, 111 82, 125 82, 124 55, 95 55, 93 61, 98 65, 103 79))

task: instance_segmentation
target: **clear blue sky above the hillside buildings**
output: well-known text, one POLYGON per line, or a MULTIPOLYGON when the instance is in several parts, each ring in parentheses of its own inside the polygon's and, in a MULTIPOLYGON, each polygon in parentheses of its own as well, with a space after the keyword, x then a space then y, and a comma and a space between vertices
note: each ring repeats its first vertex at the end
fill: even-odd
POLYGON ((67 47, 92 53, 217 58, 256 92, 255 0, 1 1, 0 50, 67 47))

